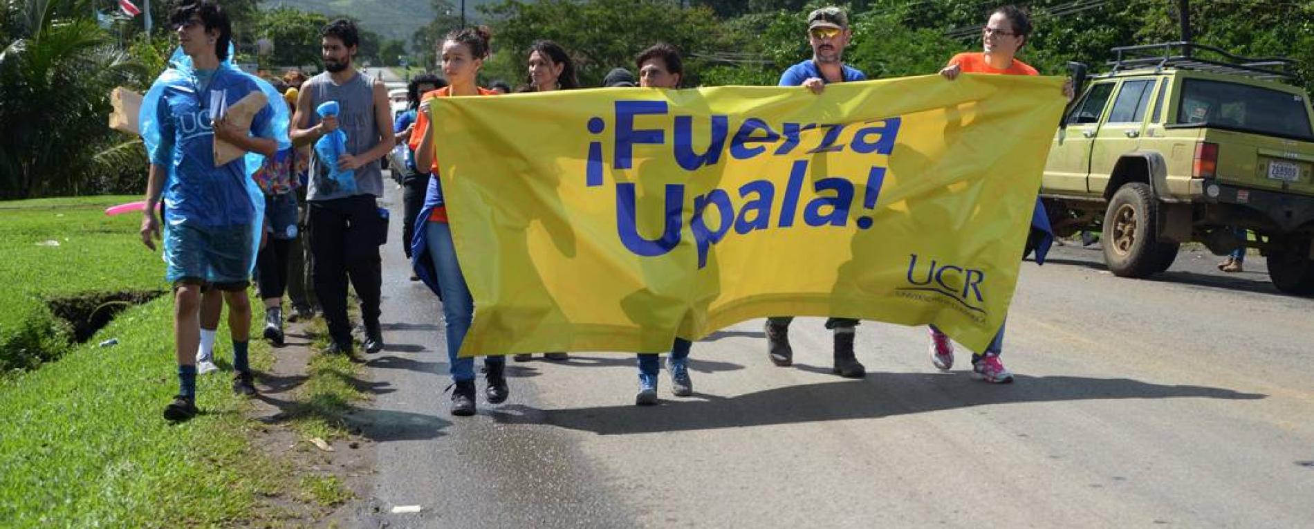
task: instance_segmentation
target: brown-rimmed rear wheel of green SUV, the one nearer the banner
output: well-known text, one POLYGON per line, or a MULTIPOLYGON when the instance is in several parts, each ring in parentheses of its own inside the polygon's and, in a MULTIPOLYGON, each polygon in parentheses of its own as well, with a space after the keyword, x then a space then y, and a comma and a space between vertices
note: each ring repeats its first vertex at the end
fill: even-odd
POLYGON ((1159 203, 1144 182, 1118 188, 1104 211, 1104 263, 1118 277, 1148 277, 1166 270, 1177 256, 1177 243, 1160 243, 1159 203))

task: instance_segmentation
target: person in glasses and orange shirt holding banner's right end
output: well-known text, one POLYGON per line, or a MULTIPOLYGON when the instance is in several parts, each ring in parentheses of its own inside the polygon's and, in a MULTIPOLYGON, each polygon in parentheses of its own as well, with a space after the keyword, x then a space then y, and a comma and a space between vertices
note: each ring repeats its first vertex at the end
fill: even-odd
MULTIPOLYGON (((1017 60, 1017 51, 1026 45, 1028 35, 1031 34, 1031 21, 1026 12, 1013 5, 995 9, 986 28, 982 28, 982 47, 984 53, 964 53, 949 59, 940 75, 945 79, 958 79, 959 74, 996 74, 996 75, 1039 75, 1030 64, 1017 60)), ((1063 85, 1063 95, 1072 98, 1072 83, 1063 85)), ((1035 263, 1045 263, 1045 253, 1049 252, 1054 235, 1050 231, 1049 217, 1039 200, 1035 201, 1035 211, 1031 215, 1031 230, 1039 232, 1035 247, 1035 263)), ((1028 244, 1030 248, 1030 244, 1028 244)), ((930 361, 940 370, 947 371, 954 366, 954 344, 936 326, 930 326, 930 361)), ((1013 373, 1004 368, 999 354, 1004 349, 1004 327, 1000 326, 995 340, 983 353, 972 353, 972 378, 993 383, 1013 382, 1013 373)))

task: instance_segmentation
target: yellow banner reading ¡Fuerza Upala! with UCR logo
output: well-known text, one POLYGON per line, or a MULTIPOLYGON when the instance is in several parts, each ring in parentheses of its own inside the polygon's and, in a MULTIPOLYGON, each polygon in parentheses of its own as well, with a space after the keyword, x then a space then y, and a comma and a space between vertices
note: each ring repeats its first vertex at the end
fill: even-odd
POLYGON ((435 100, 474 323, 463 356, 669 350, 775 315, 1008 312, 1062 80, 612 88, 435 100))

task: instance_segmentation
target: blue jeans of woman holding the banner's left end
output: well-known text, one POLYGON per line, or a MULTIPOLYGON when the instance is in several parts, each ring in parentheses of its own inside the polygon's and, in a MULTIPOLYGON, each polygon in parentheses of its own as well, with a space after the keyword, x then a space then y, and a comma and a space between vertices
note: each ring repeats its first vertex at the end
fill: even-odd
MULTIPOLYGON (((445 222, 430 222, 426 227, 428 255, 438 270, 438 287, 443 290, 443 327, 447 332, 447 362, 451 365, 452 382, 474 379, 474 358, 460 358, 461 341, 474 320, 474 299, 465 286, 461 264, 456 260, 456 247, 452 245, 452 228, 445 222)), ((505 364, 506 357, 490 356, 485 365, 505 364)))

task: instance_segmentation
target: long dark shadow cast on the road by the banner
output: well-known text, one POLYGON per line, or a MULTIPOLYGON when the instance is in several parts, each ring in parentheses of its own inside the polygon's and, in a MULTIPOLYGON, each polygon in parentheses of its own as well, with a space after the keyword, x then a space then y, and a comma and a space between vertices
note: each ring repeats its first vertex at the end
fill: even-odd
MULTIPOLYGON (((695 381, 696 382, 696 381, 695 381)), ((880 419, 986 404, 1108 399, 1256 400, 1263 394, 1205 386, 1164 386, 1129 378, 1026 377, 1009 386, 975 383, 940 373, 871 373, 863 381, 834 381, 777 387, 738 396, 703 395, 703 400, 665 406, 593 408, 501 408, 503 423, 551 424, 598 434, 678 432, 775 424, 880 419)))

